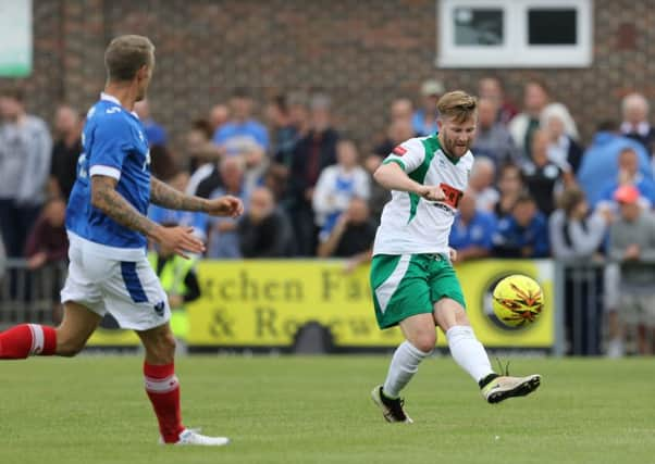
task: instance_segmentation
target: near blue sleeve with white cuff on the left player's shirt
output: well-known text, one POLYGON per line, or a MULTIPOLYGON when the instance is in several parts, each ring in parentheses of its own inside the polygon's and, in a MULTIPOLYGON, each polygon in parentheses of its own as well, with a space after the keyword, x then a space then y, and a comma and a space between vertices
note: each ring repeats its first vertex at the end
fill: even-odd
POLYGON ((99 122, 90 148, 89 174, 121 179, 123 162, 132 149, 132 129, 119 113, 99 122))

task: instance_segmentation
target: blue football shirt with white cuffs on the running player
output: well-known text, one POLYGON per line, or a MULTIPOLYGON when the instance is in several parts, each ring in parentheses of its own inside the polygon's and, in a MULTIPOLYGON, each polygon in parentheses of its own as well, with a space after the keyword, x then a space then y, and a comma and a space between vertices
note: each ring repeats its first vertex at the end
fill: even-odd
MULTIPOLYGON (((150 152, 144 126, 118 99, 102 95, 89 110, 77 161, 77 178, 66 209, 66 229, 95 243, 98 251, 132 250, 143 256, 146 237, 113 221, 91 205, 94 175, 113 177, 116 191, 139 213, 150 202, 150 152)), ((127 253, 129 254, 129 253, 127 253)), ((126 259, 122 253, 118 259, 126 259)))

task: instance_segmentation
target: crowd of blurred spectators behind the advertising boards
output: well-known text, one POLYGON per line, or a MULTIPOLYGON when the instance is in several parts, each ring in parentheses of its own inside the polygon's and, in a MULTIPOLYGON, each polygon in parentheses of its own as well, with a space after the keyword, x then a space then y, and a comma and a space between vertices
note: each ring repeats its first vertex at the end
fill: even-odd
MULTIPOLYGON (((652 281, 655 273, 645 264, 655 260, 655 128, 646 98, 627 95, 617 121, 596 122, 586 143, 574 115, 542 81, 524 84, 519 105, 496 76, 469 90, 479 97, 479 121, 475 164, 450 236, 460 261, 604 258, 629 268, 616 286, 652 281)), ((189 122, 175 152, 150 109, 156 102, 139 102, 135 112, 155 176, 205 198, 230 193, 246 206, 238 220, 159 206, 149 215, 193 226, 210 259, 338 256, 354 268, 370 259, 388 199, 372 173, 404 140, 436 131, 444 91, 441 81, 424 81, 416 99, 391 102, 383 133, 357 141, 333 124, 325 93, 293 91, 256 102, 237 89, 189 122)), ((62 205, 75 179, 84 114, 62 104, 49 128, 26 112, 23 93, 7 91, 0 116, 0 233, 7 255, 36 268, 65 256, 62 205)), ((655 305, 647 298, 615 304, 651 317, 655 305)), ((655 327, 655 313, 652 318, 655 327)))

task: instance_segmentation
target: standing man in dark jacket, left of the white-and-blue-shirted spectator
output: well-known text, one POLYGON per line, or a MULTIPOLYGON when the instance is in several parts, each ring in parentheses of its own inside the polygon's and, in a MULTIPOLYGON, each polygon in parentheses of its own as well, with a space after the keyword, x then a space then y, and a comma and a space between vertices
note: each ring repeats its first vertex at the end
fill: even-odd
POLYGON ((314 96, 311 102, 311 126, 294 147, 288 178, 287 208, 294 226, 298 253, 313 255, 317 234, 311 205, 314 186, 321 171, 336 163, 338 133, 332 128, 330 100, 314 96))

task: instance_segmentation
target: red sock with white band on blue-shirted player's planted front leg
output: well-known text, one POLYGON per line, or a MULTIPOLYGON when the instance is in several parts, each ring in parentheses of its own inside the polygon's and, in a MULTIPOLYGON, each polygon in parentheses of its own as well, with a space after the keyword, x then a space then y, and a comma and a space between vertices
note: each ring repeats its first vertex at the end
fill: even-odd
POLYGON ((152 403, 159 430, 165 443, 175 443, 184 430, 180 411, 180 383, 174 363, 155 366, 144 363, 146 392, 152 403))

